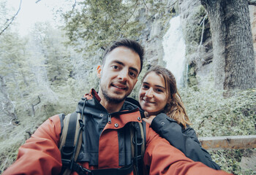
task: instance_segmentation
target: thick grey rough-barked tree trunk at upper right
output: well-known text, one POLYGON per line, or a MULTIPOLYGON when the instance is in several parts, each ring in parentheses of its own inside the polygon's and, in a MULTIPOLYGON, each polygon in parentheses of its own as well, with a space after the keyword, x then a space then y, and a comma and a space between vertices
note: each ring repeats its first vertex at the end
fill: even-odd
POLYGON ((224 90, 255 88, 255 55, 248 1, 201 2, 211 25, 216 87, 224 90))

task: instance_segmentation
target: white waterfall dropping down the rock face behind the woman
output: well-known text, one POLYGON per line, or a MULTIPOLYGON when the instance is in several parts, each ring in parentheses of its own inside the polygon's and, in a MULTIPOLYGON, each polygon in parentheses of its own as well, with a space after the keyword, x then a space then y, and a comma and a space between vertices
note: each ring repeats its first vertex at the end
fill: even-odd
POLYGON ((163 38, 162 45, 165 52, 164 61, 166 61, 166 68, 173 73, 178 87, 181 87, 184 84, 186 45, 183 39, 179 16, 170 19, 170 28, 163 38))

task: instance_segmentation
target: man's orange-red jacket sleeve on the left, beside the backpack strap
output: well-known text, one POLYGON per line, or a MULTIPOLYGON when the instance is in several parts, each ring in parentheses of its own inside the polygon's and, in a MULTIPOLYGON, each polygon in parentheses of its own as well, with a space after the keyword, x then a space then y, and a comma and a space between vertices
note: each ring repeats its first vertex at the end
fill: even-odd
POLYGON ((3 175, 10 174, 59 174, 61 153, 59 116, 50 117, 18 151, 18 158, 3 175))

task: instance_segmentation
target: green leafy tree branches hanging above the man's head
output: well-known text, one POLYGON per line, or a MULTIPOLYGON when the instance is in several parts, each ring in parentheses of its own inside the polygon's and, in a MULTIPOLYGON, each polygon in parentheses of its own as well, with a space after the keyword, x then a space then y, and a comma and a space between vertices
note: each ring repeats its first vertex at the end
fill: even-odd
POLYGON ((120 37, 140 34, 141 24, 132 20, 138 1, 90 0, 63 15, 67 36, 83 52, 105 48, 120 37))

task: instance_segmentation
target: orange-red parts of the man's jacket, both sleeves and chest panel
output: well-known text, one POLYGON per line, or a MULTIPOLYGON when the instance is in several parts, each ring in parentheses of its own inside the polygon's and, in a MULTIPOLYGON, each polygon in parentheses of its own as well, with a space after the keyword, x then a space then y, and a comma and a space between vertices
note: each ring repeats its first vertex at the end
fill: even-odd
MULTIPOLYGON (((89 101, 99 103, 99 96, 92 90, 89 101)), ((97 166, 89 166, 89 162, 81 163, 85 168, 119 168, 118 130, 129 122, 138 120, 140 112, 120 112, 111 117, 99 136, 97 166), (115 124, 118 124, 118 127, 115 124)), ((128 110, 129 111, 129 110, 128 110)), ((140 118, 139 118, 140 119, 140 118)), ((61 153, 59 139, 61 135, 61 120, 59 115, 45 121, 30 139, 23 144, 18 152, 18 158, 3 175, 6 174, 59 174, 61 171, 61 153)), ((149 125, 146 125, 146 151, 143 158, 146 174, 227 174, 208 168, 203 163, 194 162, 187 158, 180 150, 162 139, 149 125)), ((75 172, 73 174, 76 174, 75 172)), ((132 173, 131 173, 132 174, 132 173)))

